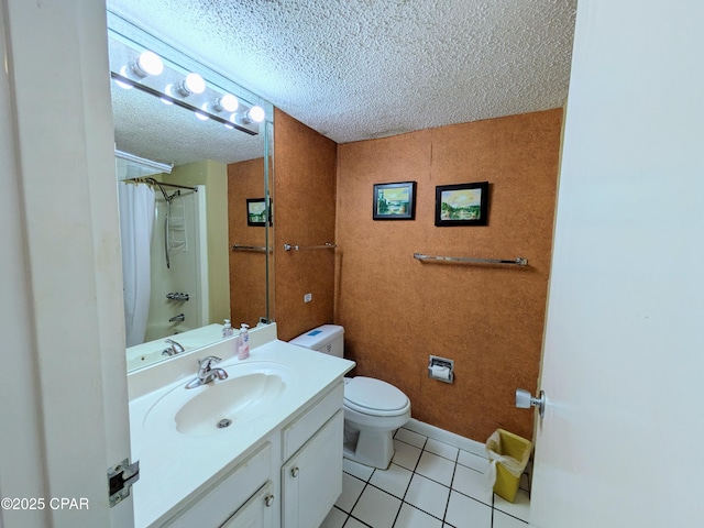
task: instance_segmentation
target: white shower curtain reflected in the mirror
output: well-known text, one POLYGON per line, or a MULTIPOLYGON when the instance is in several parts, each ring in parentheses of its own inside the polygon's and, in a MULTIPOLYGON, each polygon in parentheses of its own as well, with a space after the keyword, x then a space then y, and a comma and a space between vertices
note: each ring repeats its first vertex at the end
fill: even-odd
POLYGON ((154 189, 148 185, 119 185, 124 322, 127 345, 144 342, 150 312, 150 252, 154 232, 154 189))

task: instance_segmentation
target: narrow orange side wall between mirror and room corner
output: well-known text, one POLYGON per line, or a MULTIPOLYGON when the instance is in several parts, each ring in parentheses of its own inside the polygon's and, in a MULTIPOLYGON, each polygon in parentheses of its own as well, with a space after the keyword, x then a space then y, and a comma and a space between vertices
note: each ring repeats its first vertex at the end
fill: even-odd
POLYGON ((290 340, 333 322, 334 252, 283 244, 334 241, 337 143, 278 109, 274 113, 274 314, 290 340), (304 295, 312 301, 304 302, 304 295))

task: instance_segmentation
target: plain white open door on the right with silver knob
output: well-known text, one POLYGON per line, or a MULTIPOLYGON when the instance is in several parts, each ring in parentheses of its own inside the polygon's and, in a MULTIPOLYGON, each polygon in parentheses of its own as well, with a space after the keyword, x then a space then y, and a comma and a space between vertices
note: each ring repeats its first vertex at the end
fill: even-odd
POLYGON ((579 1, 531 526, 704 526, 702 26, 579 1))

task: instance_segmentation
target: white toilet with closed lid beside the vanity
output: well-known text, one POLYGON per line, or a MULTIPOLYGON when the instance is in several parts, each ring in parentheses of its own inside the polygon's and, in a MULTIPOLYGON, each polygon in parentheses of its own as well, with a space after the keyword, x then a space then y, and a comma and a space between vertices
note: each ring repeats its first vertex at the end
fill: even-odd
MULTIPOLYGON (((323 324, 292 344, 342 358, 344 329, 323 324)), ((344 457, 387 469, 394 457, 393 435, 410 418, 410 400, 395 386, 372 377, 344 378, 344 457)))

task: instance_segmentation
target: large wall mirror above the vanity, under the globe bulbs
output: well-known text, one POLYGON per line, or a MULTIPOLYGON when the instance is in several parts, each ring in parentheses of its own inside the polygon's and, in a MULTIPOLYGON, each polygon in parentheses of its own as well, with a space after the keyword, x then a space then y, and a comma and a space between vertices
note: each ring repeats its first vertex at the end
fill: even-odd
POLYGON ((221 339, 226 318, 235 330, 273 318, 271 224, 248 224, 248 200, 270 196, 273 109, 122 19, 109 13, 108 23, 128 370, 134 370, 221 339), (162 57, 165 79, 143 81, 128 69, 145 50, 162 57), (237 96, 241 111, 262 108, 264 119, 240 121, 209 106, 200 118, 210 119, 198 119, 195 110, 206 103, 165 85, 168 75, 186 72, 200 74, 212 94, 237 96))

